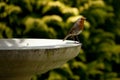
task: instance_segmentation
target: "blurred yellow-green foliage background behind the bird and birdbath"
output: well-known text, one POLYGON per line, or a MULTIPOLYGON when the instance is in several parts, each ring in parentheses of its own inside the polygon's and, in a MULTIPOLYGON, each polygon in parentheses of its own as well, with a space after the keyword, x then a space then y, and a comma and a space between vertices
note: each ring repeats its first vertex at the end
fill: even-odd
POLYGON ((32 80, 120 80, 120 0, 0 0, 0 38, 63 39, 80 16, 80 54, 32 80))

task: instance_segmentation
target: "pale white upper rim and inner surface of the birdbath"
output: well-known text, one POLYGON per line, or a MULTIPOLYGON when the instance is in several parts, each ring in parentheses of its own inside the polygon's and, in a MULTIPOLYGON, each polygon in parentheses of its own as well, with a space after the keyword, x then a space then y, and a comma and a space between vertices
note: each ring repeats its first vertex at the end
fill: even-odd
POLYGON ((81 46, 81 43, 73 40, 63 41, 61 39, 0 39, 0 50, 53 49, 73 46, 81 46))

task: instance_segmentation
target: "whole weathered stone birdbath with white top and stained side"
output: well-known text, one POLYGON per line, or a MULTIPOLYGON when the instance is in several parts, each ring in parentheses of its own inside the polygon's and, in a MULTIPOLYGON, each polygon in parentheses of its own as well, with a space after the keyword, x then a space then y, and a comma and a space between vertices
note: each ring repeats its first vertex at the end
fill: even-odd
POLYGON ((76 57, 81 44, 59 39, 0 39, 0 80, 31 80, 76 57))

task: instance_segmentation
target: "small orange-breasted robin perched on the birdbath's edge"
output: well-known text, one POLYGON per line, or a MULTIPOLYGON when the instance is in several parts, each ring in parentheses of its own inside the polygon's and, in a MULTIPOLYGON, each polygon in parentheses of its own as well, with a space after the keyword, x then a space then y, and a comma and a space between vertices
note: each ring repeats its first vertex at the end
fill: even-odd
POLYGON ((72 37, 75 40, 75 36, 76 36, 76 39, 78 40, 78 35, 83 31, 85 20, 86 18, 83 16, 78 18, 75 24, 72 26, 72 28, 68 32, 68 34, 63 39, 63 41, 65 41, 68 37, 72 37))

